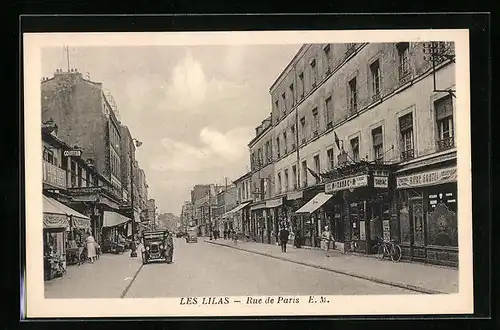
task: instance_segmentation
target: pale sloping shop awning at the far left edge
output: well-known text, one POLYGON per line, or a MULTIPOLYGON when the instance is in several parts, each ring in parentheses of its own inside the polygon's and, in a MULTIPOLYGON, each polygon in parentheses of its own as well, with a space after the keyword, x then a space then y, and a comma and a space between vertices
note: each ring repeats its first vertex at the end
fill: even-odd
POLYGON ((43 196, 43 227, 46 229, 66 229, 69 227, 69 219, 88 221, 90 218, 73 210, 72 208, 56 201, 53 198, 43 196))

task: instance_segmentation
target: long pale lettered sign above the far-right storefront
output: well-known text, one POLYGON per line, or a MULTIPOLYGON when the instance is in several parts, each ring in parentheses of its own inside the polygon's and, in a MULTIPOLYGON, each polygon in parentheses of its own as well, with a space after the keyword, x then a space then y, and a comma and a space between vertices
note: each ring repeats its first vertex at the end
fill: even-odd
POLYGON ((457 168, 450 167, 435 171, 401 176, 396 179, 397 188, 431 186, 457 181, 457 168))

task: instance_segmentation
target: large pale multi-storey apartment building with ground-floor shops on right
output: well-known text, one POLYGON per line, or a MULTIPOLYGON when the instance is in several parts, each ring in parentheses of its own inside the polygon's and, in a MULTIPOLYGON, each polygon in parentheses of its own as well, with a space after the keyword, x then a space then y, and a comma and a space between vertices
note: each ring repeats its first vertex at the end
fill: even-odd
POLYGON ((405 258, 458 262, 453 56, 445 42, 312 44, 283 70, 274 195, 305 244, 328 225, 346 250, 396 239, 405 258))

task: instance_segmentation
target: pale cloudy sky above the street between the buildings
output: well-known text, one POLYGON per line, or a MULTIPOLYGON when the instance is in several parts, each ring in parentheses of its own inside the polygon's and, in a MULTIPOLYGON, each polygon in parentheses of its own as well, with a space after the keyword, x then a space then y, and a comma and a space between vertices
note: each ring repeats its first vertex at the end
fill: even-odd
MULTIPOLYGON (((234 180, 271 111, 269 88, 301 45, 70 47, 70 67, 102 82, 143 144, 136 158, 159 213, 179 215, 195 184, 234 180)), ((68 67, 44 48, 42 77, 68 67)))

